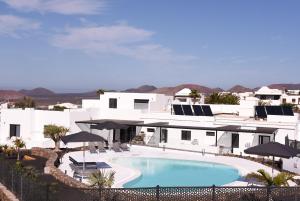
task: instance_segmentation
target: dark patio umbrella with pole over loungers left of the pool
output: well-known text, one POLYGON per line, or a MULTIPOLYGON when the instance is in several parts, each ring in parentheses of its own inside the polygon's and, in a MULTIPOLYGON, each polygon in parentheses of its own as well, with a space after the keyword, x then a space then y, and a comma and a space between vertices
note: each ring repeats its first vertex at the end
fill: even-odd
MULTIPOLYGON (((85 171, 85 143, 86 142, 103 142, 105 139, 99 135, 95 135, 86 131, 81 131, 71 135, 66 135, 61 138, 63 143, 83 142, 83 173, 85 171)), ((83 176, 82 176, 83 177, 83 176)))

